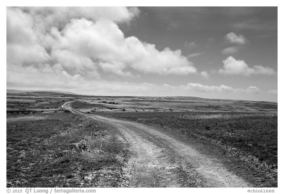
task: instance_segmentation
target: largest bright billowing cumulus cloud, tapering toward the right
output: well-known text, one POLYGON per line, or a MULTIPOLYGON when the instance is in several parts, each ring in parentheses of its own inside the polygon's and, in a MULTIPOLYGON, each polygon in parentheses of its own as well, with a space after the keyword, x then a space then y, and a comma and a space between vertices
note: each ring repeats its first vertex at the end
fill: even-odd
MULTIPOLYGON (((52 47, 52 56, 58 60, 70 53, 80 59, 87 58, 102 70, 118 75, 123 75, 127 68, 163 75, 197 72, 180 50, 165 48, 159 51, 154 44, 136 37, 125 38, 119 27, 109 20, 72 19, 61 33, 55 34, 59 35, 59 41, 52 47)), ((86 66, 84 60, 77 62, 75 66, 86 66)), ((67 66, 75 64, 64 60, 62 63, 68 63, 67 66)))

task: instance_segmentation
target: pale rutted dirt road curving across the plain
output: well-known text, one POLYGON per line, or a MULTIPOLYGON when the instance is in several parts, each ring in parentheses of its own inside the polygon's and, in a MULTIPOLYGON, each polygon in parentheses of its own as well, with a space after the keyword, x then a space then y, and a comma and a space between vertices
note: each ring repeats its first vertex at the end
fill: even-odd
POLYGON ((221 161, 197 152, 189 145, 154 127, 73 110, 71 102, 62 108, 109 123, 130 145, 133 157, 126 165, 125 180, 131 187, 251 187, 228 171, 221 161))

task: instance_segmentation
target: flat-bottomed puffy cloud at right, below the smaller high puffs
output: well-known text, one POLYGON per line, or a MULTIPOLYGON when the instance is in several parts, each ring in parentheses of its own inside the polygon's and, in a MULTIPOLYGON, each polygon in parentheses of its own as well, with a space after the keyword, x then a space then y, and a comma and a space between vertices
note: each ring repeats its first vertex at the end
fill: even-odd
POLYGON ((220 74, 225 75, 241 75, 241 76, 250 76, 250 75, 273 75, 275 71, 269 67, 262 67, 260 65, 253 66, 250 68, 245 61, 236 60, 234 57, 229 56, 227 59, 223 60, 223 68, 219 69, 220 74))

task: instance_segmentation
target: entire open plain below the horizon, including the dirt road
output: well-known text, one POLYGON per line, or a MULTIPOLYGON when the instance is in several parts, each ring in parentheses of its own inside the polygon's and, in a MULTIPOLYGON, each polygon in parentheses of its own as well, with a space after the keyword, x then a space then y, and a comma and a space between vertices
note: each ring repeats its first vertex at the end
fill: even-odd
POLYGON ((277 187, 277 103, 7 93, 7 187, 277 187))

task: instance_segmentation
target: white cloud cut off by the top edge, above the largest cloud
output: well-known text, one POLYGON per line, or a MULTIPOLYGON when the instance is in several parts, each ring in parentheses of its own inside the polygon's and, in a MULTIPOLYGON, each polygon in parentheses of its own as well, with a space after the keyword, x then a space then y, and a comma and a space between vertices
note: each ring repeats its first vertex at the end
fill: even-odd
POLYGON ((20 7, 34 19, 34 31, 44 47, 50 47, 53 39, 49 30, 61 31, 71 19, 85 18, 90 21, 111 20, 115 23, 129 22, 138 16, 137 7, 20 7))

